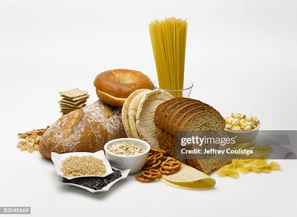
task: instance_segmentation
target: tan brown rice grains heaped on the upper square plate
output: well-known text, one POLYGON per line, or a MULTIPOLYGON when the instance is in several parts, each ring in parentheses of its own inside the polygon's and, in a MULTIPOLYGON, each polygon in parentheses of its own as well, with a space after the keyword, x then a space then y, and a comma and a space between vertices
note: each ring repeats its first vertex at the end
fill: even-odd
POLYGON ((105 165, 93 156, 70 156, 62 160, 61 171, 65 176, 104 175, 105 165))

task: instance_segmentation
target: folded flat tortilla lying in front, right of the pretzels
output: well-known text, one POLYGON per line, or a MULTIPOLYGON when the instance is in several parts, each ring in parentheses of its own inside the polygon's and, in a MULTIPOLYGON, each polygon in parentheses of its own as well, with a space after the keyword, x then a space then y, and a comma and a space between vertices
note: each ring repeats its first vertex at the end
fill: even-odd
POLYGON ((209 189, 215 186, 215 180, 212 177, 183 163, 178 172, 162 175, 160 181, 168 186, 192 190, 209 189))

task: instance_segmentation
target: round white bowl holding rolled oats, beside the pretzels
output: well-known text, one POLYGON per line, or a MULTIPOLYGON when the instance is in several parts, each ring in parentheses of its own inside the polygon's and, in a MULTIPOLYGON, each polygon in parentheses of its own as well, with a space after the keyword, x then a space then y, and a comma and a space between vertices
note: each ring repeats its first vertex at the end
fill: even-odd
POLYGON ((106 154, 106 158, 110 162, 113 167, 116 167, 120 170, 127 170, 130 169, 130 173, 139 172, 143 166, 146 164, 148 159, 148 152, 150 150, 150 145, 148 142, 144 140, 138 140, 133 138, 121 138, 116 140, 111 140, 104 145, 104 151, 106 154), (132 144, 142 147, 145 151, 139 155, 115 155, 114 153, 108 150, 108 146, 113 145, 115 143, 122 143, 122 142, 131 142, 132 144))

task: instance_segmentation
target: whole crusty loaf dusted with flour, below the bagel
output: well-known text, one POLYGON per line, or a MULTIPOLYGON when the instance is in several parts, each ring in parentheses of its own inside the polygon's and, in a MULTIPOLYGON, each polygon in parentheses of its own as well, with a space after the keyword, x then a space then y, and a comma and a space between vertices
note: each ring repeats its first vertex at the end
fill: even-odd
POLYGON ((58 119, 39 142, 41 155, 97 152, 110 140, 126 138, 121 109, 98 100, 58 119))

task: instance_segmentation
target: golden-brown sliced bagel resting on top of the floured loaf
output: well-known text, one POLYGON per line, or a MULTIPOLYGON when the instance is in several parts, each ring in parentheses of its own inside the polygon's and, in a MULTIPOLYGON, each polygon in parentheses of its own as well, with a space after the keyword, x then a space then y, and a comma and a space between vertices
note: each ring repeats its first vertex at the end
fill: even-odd
POLYGON ((127 97, 138 89, 152 90, 151 80, 130 69, 113 69, 100 73, 94 80, 96 93, 103 102, 122 107, 127 97))

